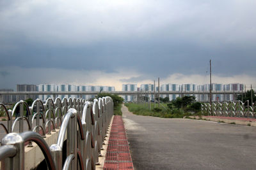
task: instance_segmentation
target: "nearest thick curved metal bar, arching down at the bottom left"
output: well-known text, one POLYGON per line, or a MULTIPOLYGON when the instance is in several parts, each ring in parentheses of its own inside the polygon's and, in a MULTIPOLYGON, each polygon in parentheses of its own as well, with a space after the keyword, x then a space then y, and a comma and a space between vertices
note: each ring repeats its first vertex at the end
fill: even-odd
POLYGON ((42 150, 42 153, 44 153, 47 166, 50 167, 50 169, 53 169, 53 170, 56 169, 49 146, 45 142, 44 138, 40 136, 40 134, 29 131, 29 132, 20 133, 20 136, 24 139, 24 142, 34 141, 40 147, 40 149, 42 150))

